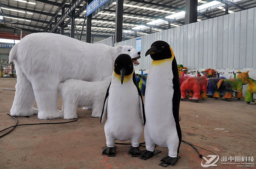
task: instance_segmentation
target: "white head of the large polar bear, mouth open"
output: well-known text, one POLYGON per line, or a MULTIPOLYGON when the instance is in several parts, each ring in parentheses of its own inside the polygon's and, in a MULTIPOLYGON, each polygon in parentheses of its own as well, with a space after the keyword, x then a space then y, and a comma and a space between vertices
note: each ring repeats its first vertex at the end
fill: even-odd
POLYGON ((132 46, 118 45, 116 47, 116 52, 117 52, 116 57, 119 56, 119 54, 128 54, 132 58, 133 65, 135 65, 135 66, 139 65, 139 62, 137 61, 137 59, 140 58, 140 51, 133 48, 132 46))

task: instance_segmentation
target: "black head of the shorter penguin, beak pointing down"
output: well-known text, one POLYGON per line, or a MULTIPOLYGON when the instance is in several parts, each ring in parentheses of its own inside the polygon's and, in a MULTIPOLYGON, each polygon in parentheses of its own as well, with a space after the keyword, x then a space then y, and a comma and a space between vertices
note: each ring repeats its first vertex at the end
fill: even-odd
POLYGON ((123 84, 124 76, 133 73, 132 58, 128 54, 120 54, 114 62, 114 72, 121 75, 121 84, 123 84))

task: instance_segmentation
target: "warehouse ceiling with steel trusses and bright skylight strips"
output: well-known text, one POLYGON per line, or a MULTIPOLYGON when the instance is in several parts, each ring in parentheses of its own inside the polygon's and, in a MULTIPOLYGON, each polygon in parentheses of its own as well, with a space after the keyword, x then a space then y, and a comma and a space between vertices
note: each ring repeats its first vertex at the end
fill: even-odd
MULTIPOLYGON (((84 0, 78 7, 78 18, 75 19, 78 33, 81 33, 82 24, 86 16, 84 0), (81 8, 81 9, 80 9, 81 8)), ((225 4, 220 0, 198 0, 198 21, 214 18, 225 14, 225 4)), ((229 0, 229 13, 256 7, 256 0, 229 0)), ((110 5, 92 17, 92 35, 112 36, 115 30, 115 0, 110 5)), ((123 6, 123 35, 132 38, 143 34, 154 33, 184 24, 185 0, 124 0, 123 6)), ((31 32, 49 30, 54 24, 55 17, 61 16, 61 8, 71 4, 71 0, 0 0, 0 22, 9 23, 8 26, 31 32)), ((70 18, 65 19, 64 33, 70 33, 70 18)), ((85 34, 85 31, 83 32, 85 34)))

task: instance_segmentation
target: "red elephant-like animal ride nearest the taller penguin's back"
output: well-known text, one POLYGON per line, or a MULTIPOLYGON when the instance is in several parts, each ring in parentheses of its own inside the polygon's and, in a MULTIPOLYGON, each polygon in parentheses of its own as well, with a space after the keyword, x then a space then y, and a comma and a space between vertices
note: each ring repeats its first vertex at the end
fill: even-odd
POLYGON ((198 102, 200 98, 202 100, 207 98, 206 88, 207 88, 207 78, 201 77, 189 77, 181 84, 181 100, 186 99, 186 91, 189 91, 189 99, 198 102))

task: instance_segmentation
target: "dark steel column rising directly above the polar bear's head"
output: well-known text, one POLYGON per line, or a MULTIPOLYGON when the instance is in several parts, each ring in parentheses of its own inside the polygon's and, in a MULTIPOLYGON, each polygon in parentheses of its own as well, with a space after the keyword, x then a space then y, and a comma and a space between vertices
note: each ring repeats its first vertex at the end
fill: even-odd
POLYGON ((123 32, 123 0, 116 1, 116 30, 115 30, 115 42, 122 41, 123 32))

